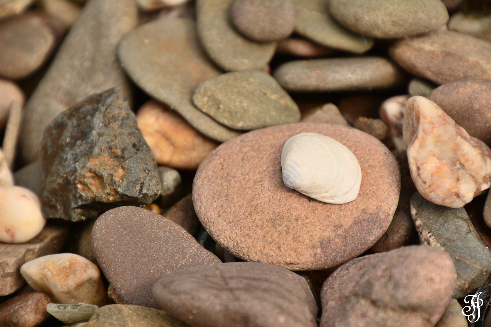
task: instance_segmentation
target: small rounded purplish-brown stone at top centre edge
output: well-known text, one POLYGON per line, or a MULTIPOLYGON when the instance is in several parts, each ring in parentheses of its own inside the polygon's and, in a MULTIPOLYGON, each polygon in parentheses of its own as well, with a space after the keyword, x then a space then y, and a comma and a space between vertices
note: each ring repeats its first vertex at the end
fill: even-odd
POLYGON ((291 0, 236 0, 230 17, 239 32, 258 42, 285 39, 295 28, 295 6, 291 0))

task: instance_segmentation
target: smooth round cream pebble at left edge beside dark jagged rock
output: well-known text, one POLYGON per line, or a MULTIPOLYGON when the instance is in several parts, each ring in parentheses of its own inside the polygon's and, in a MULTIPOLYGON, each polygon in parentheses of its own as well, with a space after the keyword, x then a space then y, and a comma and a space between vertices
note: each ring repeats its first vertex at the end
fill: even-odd
POLYGON ((0 242, 27 242, 45 224, 41 202, 34 193, 20 186, 0 186, 0 242))

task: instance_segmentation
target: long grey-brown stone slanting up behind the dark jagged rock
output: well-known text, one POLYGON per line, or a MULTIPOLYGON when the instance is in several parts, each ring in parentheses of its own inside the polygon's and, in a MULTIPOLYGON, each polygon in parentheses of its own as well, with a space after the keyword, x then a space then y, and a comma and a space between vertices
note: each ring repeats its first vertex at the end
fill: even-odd
POLYGON ((23 164, 39 158, 45 128, 68 107, 115 86, 131 99, 132 86, 115 51, 121 36, 136 26, 136 16, 133 0, 87 1, 27 101, 19 139, 23 164))

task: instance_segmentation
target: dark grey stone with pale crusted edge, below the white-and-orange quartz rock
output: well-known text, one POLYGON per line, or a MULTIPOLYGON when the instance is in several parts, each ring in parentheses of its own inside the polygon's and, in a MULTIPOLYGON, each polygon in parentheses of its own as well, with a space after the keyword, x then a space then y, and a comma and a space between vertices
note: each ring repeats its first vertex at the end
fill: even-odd
POLYGON ((460 299, 481 286, 491 273, 491 252, 483 244, 464 208, 447 208, 411 198, 411 215, 422 244, 442 248, 457 269, 454 298, 460 299))

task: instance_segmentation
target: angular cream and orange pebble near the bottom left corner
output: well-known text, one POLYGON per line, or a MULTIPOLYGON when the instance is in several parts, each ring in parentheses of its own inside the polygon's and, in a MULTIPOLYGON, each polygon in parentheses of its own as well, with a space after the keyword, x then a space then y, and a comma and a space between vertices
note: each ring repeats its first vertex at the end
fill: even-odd
POLYGON ((57 253, 27 261, 21 274, 30 287, 57 303, 102 306, 109 301, 99 269, 78 254, 57 253))

